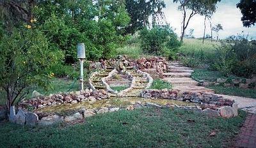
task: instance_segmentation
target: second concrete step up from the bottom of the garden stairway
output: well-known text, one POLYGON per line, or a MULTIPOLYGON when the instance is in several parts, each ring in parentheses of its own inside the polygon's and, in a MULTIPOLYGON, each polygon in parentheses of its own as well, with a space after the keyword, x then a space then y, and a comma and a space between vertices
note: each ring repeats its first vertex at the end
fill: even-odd
POLYGON ((172 78, 166 77, 163 78, 164 81, 171 83, 172 85, 197 85, 198 82, 193 80, 192 78, 172 78))

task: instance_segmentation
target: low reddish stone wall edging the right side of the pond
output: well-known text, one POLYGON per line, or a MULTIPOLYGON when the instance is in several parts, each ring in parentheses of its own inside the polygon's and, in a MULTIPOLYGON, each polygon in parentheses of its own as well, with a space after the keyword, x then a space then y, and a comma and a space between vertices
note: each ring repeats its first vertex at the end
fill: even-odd
POLYGON ((143 98, 155 99, 172 99, 179 101, 189 101, 199 103, 198 109, 207 114, 214 114, 214 116, 221 117, 236 117, 237 116, 237 103, 231 100, 225 100, 222 96, 209 93, 193 93, 183 92, 178 90, 168 89, 148 89, 141 93, 143 98))

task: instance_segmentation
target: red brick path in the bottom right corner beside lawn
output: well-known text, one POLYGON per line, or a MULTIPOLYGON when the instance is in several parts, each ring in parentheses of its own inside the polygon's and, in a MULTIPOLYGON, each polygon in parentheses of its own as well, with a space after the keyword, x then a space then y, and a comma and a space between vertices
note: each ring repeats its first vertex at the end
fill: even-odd
POLYGON ((256 147, 256 115, 250 114, 246 117, 243 127, 240 129, 234 147, 256 147))

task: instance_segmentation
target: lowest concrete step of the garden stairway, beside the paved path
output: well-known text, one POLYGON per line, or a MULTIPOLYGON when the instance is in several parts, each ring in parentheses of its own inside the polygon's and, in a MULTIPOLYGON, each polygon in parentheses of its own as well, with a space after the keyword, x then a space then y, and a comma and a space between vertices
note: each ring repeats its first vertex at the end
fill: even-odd
POLYGON ((202 86, 193 86, 193 85, 173 85, 173 89, 178 89, 182 92, 191 91, 191 92, 205 92, 205 93, 215 93, 213 89, 208 89, 202 86))

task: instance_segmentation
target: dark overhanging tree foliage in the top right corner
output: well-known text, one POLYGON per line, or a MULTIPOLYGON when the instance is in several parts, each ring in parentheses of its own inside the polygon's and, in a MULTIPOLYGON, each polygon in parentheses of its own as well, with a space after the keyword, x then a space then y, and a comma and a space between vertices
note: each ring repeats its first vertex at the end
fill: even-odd
POLYGON ((237 8, 241 10, 243 17, 241 18, 244 27, 254 26, 256 22, 256 1, 240 0, 237 8))

